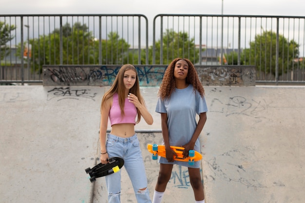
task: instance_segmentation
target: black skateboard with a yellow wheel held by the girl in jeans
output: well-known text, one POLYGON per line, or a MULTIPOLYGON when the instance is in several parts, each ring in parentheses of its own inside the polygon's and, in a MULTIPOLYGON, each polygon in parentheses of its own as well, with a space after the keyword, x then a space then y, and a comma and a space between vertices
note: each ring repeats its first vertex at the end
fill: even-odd
POLYGON ((124 159, 120 157, 112 157, 108 159, 108 164, 99 163, 93 168, 86 168, 86 173, 90 175, 90 182, 94 182, 95 178, 107 176, 116 173, 124 165, 124 159))

